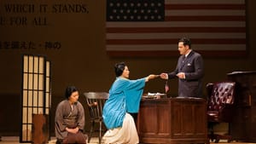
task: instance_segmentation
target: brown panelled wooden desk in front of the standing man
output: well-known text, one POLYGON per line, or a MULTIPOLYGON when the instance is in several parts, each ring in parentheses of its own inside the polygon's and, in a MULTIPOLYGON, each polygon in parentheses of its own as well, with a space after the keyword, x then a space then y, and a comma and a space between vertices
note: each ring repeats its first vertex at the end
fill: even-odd
POLYGON ((137 131, 142 143, 208 143, 207 101, 189 98, 142 100, 137 131))

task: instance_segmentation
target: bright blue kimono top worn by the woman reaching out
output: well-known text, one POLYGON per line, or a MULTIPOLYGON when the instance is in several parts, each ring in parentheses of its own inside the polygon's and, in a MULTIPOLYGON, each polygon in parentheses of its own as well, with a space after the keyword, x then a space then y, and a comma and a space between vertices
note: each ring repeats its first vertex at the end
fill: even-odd
POLYGON ((125 112, 138 112, 144 87, 145 78, 116 78, 103 107, 103 121, 108 130, 122 126, 125 112))

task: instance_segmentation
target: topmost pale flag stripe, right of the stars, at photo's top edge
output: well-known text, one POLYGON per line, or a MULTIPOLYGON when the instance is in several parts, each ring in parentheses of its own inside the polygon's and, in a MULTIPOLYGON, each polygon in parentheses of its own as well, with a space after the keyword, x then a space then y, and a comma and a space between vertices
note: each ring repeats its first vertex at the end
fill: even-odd
POLYGON ((245 0, 165 0, 170 4, 243 4, 245 0))

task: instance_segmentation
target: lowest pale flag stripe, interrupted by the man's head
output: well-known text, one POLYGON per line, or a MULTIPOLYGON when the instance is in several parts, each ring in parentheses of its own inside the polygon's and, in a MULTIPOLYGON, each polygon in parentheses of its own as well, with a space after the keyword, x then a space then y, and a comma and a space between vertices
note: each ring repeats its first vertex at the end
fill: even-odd
MULTIPOLYGON (((245 44, 193 44, 195 50, 244 50, 245 44)), ((177 50, 177 44, 144 44, 144 45, 108 45, 109 51, 154 51, 154 50, 177 50)), ((177 52, 178 53, 178 52, 177 52)))

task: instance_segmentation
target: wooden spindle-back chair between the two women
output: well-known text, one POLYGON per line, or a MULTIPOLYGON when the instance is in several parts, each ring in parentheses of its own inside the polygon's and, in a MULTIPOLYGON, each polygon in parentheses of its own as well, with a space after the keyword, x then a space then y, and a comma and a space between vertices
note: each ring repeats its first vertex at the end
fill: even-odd
POLYGON ((102 142, 102 108, 105 101, 108 100, 108 93, 106 92, 88 92, 84 93, 85 99, 90 112, 90 134, 88 137, 88 143, 92 133, 94 132, 94 127, 96 123, 100 124, 99 132, 99 143, 102 142))

